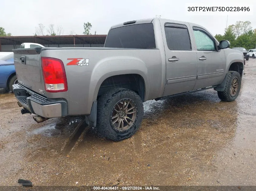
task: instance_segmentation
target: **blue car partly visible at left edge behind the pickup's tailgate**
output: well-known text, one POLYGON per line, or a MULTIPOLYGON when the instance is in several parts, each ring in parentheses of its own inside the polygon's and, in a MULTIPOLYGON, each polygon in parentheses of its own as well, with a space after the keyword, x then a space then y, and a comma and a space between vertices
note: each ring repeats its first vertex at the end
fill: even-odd
POLYGON ((13 53, 0 59, 0 88, 12 90, 12 85, 17 84, 13 53))

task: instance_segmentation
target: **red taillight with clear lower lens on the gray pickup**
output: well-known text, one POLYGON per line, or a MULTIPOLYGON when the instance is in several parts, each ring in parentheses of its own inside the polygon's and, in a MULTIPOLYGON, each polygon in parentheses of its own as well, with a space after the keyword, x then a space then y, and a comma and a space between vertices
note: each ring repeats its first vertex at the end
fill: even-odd
POLYGON ((67 78, 63 62, 56 58, 42 57, 42 71, 45 82, 45 91, 68 91, 67 78))

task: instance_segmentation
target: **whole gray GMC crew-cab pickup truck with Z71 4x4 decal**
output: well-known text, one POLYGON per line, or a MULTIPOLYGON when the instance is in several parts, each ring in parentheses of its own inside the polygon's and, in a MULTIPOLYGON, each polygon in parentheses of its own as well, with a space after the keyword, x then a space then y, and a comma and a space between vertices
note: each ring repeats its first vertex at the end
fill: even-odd
POLYGON ((204 27, 167 19, 112 26, 104 48, 14 49, 24 113, 37 122, 85 116, 105 137, 131 137, 143 102, 214 88, 233 101, 244 74, 243 53, 218 42, 204 27))

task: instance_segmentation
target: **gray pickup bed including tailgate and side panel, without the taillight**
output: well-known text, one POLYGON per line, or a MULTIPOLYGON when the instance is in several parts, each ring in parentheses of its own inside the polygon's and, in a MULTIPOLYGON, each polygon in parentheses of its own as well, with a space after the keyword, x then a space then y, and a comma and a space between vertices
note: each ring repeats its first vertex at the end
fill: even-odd
MULTIPOLYGON (((30 48, 14 49, 13 52, 19 83, 48 100, 67 100, 68 115, 90 114, 101 83, 113 75, 141 75, 154 89, 165 83, 165 79, 162 79, 165 63, 162 65, 159 49, 30 48), (68 91, 45 91, 42 57, 56 58, 63 62, 68 91), (24 62, 22 59, 25 59, 24 62), (84 64, 78 65, 75 59, 84 59, 84 64), (71 61, 72 65, 68 64, 71 61)), ((160 91, 147 92, 150 93, 145 95, 145 100, 161 97, 160 91)))

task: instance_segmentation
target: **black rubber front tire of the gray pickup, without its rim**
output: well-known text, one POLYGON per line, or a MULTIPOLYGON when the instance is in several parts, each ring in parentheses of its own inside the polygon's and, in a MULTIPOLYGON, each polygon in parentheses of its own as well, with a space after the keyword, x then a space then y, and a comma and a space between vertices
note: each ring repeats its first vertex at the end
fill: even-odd
POLYGON ((241 76, 240 76, 240 74, 238 72, 235 72, 235 71, 228 71, 225 89, 224 89, 224 91, 218 91, 218 97, 223 101, 234 101, 238 97, 238 94, 240 92, 240 88, 241 88, 241 76), (232 97, 231 94, 230 94, 230 88, 231 88, 232 81, 235 77, 238 77, 238 80, 239 80, 238 90, 237 90, 235 96, 232 97))

